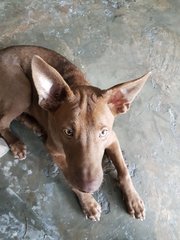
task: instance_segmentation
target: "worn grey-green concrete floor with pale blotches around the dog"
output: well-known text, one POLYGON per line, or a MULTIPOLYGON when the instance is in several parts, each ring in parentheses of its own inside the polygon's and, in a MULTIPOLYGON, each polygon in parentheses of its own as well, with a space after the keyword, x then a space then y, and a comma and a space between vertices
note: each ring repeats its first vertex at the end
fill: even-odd
POLYGON ((152 70, 152 77, 115 130, 146 220, 124 209, 106 166, 96 193, 103 214, 86 220, 41 139, 18 122, 25 161, 0 161, 0 239, 180 239, 180 1, 1 0, 0 47, 41 45, 76 63, 92 84, 107 88, 152 70))

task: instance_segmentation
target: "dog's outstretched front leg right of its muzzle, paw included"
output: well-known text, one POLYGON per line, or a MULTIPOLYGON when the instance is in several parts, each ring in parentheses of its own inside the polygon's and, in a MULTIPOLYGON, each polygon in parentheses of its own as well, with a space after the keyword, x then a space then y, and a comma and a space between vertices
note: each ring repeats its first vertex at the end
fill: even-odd
POLYGON ((144 203, 135 190, 127 166, 125 164, 118 139, 113 133, 113 140, 106 149, 118 173, 118 183, 124 196, 127 210, 130 215, 143 220, 145 218, 144 203))

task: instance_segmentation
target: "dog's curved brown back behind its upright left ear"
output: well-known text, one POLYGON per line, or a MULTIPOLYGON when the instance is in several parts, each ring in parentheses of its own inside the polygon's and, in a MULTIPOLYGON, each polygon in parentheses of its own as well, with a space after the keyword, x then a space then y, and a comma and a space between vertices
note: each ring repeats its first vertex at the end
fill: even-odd
MULTIPOLYGON (((31 79, 31 60, 34 55, 40 56, 45 62, 55 68, 68 85, 87 84, 84 74, 70 61, 53 50, 36 46, 14 46, 0 50, 0 68, 13 72, 19 70, 31 79)), ((2 75, 0 81, 2 81, 2 75)))

